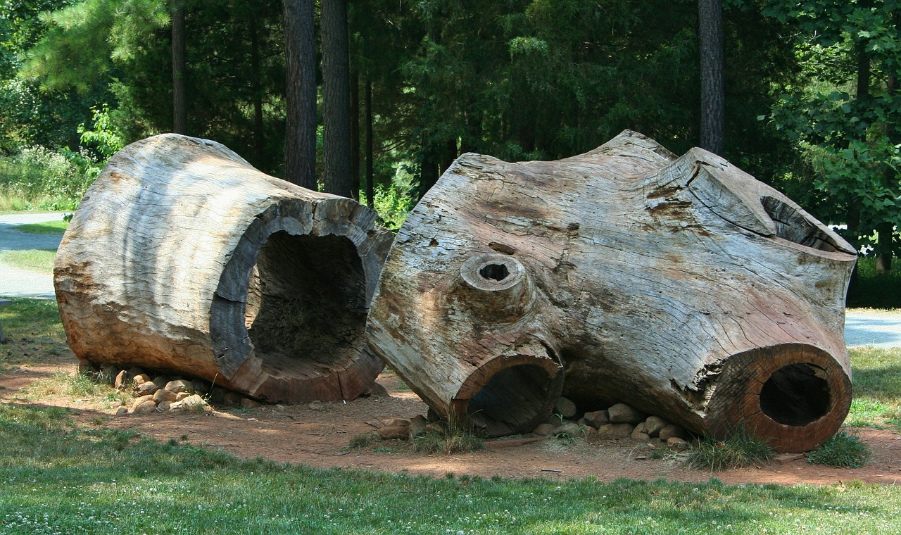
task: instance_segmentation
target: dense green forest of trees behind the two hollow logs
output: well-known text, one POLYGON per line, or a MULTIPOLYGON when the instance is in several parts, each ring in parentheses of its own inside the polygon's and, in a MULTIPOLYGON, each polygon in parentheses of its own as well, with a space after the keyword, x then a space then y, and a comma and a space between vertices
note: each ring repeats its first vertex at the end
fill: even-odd
POLYGON ((463 152, 560 159, 632 129, 720 153, 841 225, 861 269, 897 270, 901 0, 0 0, 0 15, 13 209, 74 209, 116 150, 177 131, 396 229, 463 152))

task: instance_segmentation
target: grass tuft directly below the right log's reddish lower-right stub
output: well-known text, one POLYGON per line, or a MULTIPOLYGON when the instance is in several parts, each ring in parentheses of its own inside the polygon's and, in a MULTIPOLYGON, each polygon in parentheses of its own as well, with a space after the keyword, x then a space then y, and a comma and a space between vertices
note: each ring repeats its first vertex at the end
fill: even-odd
POLYGON ((706 437, 686 458, 688 467, 698 470, 729 470, 767 463, 776 452, 769 445, 742 429, 726 440, 706 437))

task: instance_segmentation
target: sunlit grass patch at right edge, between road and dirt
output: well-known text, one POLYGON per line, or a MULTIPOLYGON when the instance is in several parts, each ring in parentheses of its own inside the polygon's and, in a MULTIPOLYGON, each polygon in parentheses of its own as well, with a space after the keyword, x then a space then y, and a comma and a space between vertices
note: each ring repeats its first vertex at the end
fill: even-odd
POLYGON ((852 348, 854 398, 846 423, 901 430, 901 349, 852 348))

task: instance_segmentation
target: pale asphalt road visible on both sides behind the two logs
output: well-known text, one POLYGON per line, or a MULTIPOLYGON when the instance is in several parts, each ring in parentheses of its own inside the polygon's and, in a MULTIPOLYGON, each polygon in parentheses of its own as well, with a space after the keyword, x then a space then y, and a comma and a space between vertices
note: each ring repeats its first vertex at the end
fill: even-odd
MULTIPOLYGON (((28 234, 16 231, 15 226, 32 222, 59 221, 62 216, 62 213, 0 215, 0 252, 56 249, 59 247, 59 236, 28 234)), ((53 277, 0 264, 0 297, 55 299, 53 277)), ((845 318, 845 341, 849 346, 901 348, 901 313, 851 311, 845 318)))

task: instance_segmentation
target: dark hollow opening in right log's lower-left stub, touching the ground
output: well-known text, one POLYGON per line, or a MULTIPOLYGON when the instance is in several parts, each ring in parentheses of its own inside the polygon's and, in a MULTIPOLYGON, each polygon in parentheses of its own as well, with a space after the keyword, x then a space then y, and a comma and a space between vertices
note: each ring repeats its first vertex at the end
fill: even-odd
POLYGON ((532 364, 506 367, 469 400, 467 414, 488 436, 532 431, 551 396, 547 370, 532 364))

